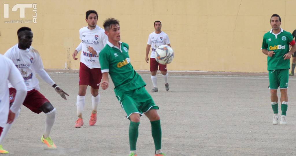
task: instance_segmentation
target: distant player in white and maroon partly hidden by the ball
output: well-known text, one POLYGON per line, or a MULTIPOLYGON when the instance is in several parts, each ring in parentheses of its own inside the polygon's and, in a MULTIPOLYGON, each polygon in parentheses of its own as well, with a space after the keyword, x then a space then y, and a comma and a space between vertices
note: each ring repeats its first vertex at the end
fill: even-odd
POLYGON ((149 34, 149 37, 148 37, 145 61, 148 63, 149 61, 148 55, 149 55, 150 47, 152 47, 151 55, 150 55, 150 71, 151 71, 151 80, 154 87, 151 92, 158 92, 157 77, 156 77, 157 70, 160 70, 161 74, 163 74, 163 78, 165 80, 165 90, 169 90, 170 86, 168 85, 168 73, 167 73, 166 65, 162 65, 155 60, 155 50, 157 49, 157 47, 161 45, 170 46, 170 40, 168 38, 168 35, 165 34, 163 31, 161 31, 160 21, 157 20, 154 22, 154 28, 155 28, 155 31, 149 34))

